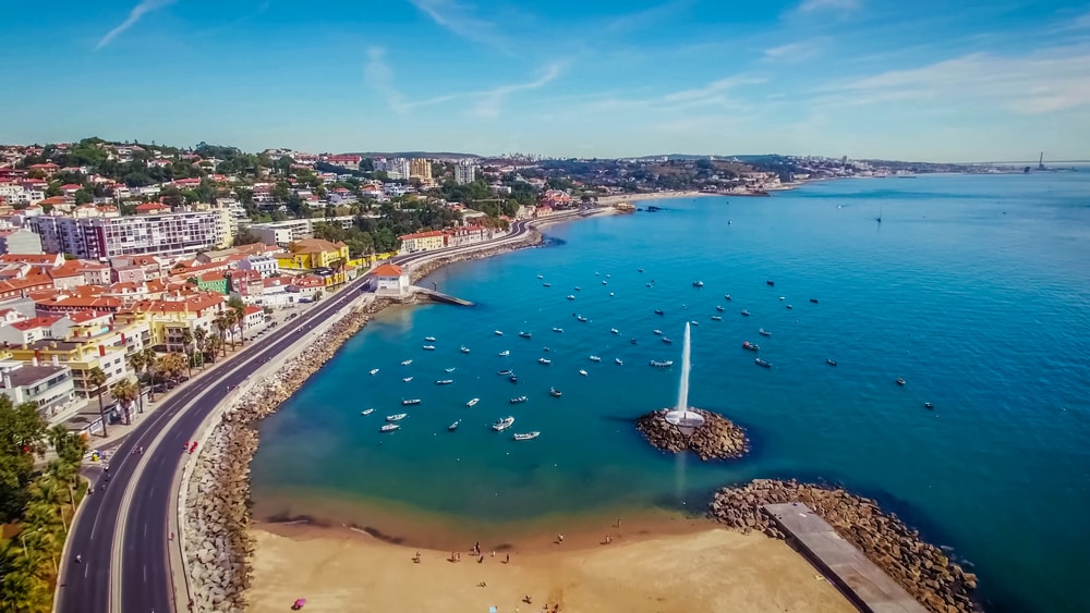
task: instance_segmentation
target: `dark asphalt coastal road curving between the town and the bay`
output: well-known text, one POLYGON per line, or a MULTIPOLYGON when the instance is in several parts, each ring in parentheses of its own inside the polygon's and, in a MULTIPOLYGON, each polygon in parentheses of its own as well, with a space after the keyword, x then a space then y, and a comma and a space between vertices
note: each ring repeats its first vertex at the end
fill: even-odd
MULTIPOLYGON (((574 217, 554 216, 547 221, 574 217)), ((522 240, 533 225, 535 222, 531 220, 517 221, 502 238, 400 256, 392 261, 416 263, 504 246, 522 240)), ((245 382, 266 361, 287 351, 300 340, 301 333, 354 302, 367 281, 366 275, 351 281, 305 314, 281 323, 276 332, 252 341, 229 361, 164 401, 122 441, 110 462, 111 480, 105 483, 105 489, 98 489, 84 500, 72 526, 65 549, 68 559, 61 562, 55 611, 168 613, 185 610, 185 602, 174 602, 169 548, 175 543, 168 540, 172 486, 190 458, 182 445, 194 438, 228 390, 245 382), (144 448, 143 455, 132 454, 136 446, 144 448), (77 554, 82 563, 75 562, 77 554)), ((101 485, 96 483, 96 487, 101 488, 101 485)))

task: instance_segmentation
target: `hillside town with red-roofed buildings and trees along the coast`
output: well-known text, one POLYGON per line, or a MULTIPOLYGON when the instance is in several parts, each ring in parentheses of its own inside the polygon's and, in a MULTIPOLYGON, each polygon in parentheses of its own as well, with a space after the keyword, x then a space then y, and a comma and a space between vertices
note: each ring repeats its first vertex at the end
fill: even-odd
POLYGON ((138 415, 145 395, 398 254, 493 240, 514 220, 600 199, 625 207, 641 193, 759 196, 938 170, 965 169, 778 156, 251 155, 98 138, 0 146, 0 391, 52 424, 105 433, 138 415))

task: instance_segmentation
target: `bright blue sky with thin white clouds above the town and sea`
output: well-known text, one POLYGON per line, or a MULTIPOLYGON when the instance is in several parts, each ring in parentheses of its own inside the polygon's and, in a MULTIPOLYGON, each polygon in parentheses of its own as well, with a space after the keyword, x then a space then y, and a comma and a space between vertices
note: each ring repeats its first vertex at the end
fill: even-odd
POLYGON ((1090 3, 5 0, 0 142, 1090 158, 1090 3))

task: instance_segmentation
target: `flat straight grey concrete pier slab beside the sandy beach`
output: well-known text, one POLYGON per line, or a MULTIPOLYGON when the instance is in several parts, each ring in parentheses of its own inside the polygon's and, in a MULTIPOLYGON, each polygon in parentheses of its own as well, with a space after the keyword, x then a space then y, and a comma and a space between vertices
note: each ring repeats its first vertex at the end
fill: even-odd
POLYGON ((765 504, 787 541, 864 613, 927 613, 896 581, 800 502, 765 504))

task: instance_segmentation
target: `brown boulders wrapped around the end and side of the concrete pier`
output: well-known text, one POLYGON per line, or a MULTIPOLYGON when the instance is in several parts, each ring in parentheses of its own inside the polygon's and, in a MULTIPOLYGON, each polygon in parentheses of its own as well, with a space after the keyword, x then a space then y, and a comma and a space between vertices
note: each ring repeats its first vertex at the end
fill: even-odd
POLYGON ((743 532, 756 530, 783 539, 775 520, 762 506, 787 502, 801 502, 814 510, 841 538, 856 545, 930 611, 981 611, 973 599, 976 575, 965 572, 940 548, 923 542, 920 532, 906 526, 895 514, 882 512, 875 501, 841 488, 756 479, 716 492, 711 515, 743 532))

